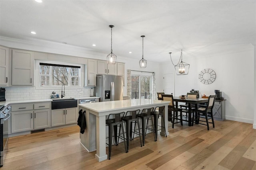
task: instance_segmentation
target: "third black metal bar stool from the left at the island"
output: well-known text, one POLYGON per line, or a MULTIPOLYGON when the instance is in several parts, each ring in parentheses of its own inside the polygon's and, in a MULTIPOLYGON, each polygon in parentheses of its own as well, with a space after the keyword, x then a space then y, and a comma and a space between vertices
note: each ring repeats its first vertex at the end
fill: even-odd
MULTIPOLYGON (((156 141, 156 133, 155 133, 155 130, 154 130, 154 122, 153 122, 153 119, 152 119, 153 115, 151 114, 151 112, 153 110, 154 110, 154 107, 143 109, 142 112, 137 115, 138 118, 142 119, 142 143, 143 143, 143 146, 144 146, 144 143, 145 143, 146 119, 147 118, 151 119, 152 131, 154 133, 154 140, 156 141)), ((135 131, 135 127, 134 127, 134 131, 135 131)), ((139 131, 140 131, 140 129, 139 129, 139 131)))

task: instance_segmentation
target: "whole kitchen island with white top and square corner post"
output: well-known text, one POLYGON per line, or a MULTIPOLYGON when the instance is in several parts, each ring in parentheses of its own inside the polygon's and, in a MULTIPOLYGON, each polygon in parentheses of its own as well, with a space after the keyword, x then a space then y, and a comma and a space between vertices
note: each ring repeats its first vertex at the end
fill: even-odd
MULTIPOLYGON (((83 109, 83 111, 86 111, 86 130, 84 134, 80 133, 80 143, 89 152, 96 150, 95 158, 99 162, 106 160, 108 158, 106 154, 106 116, 111 113, 165 106, 162 123, 164 121, 165 125, 168 125, 168 114, 165 113, 168 113, 169 103, 163 100, 132 99, 79 104, 79 110, 83 109)), ((168 126, 165 127, 165 130, 167 135, 169 135, 168 126)), ((162 129, 160 135, 165 136, 164 129, 162 129)))

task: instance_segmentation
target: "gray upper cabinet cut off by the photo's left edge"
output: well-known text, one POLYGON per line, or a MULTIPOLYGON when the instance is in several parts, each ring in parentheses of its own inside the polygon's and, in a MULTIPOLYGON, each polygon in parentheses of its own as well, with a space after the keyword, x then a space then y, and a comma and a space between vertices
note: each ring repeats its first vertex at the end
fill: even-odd
POLYGON ((0 86, 9 84, 9 49, 0 46, 0 86))

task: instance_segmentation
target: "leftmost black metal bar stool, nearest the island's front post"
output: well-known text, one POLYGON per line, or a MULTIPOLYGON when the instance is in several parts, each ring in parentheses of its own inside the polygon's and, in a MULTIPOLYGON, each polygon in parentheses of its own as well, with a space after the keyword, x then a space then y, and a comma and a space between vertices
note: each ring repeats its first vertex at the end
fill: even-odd
MULTIPOLYGON (((124 112, 109 114, 108 119, 106 119, 106 125, 108 126, 108 159, 109 160, 110 160, 111 149, 112 149, 113 130, 114 130, 115 142, 116 142, 116 145, 118 145, 118 143, 117 143, 117 126, 118 125, 121 126, 123 137, 124 137, 123 121, 120 119, 121 114, 124 114, 124 112), (112 117, 114 117, 114 118, 112 118, 112 117)), ((125 137, 124 137, 124 148, 125 148, 125 151, 127 153, 125 137)))

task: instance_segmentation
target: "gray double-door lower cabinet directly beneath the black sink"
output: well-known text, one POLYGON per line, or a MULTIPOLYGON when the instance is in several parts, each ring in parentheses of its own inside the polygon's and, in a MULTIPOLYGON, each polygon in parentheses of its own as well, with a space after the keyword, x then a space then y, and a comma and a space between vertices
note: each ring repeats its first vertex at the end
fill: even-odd
POLYGON ((52 110, 52 126, 77 123, 77 107, 52 110))

